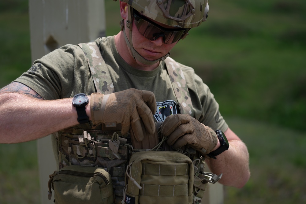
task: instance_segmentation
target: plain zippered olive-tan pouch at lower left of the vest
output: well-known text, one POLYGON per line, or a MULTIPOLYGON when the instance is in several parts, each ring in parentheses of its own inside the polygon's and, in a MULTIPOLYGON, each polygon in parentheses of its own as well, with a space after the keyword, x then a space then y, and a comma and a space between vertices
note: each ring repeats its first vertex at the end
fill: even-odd
POLYGON ((54 190, 54 202, 73 204, 113 204, 114 191, 110 174, 100 167, 66 166, 49 176, 48 198, 54 190))

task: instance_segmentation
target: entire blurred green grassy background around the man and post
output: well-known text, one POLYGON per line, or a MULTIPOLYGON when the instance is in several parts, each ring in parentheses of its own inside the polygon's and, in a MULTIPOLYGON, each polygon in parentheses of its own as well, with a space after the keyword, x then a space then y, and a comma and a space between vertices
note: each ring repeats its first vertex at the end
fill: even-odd
MULTIPOLYGON (((106 34, 115 35, 118 2, 105 4, 106 34)), ((306 1, 209 6, 171 57, 202 77, 248 146, 251 178, 225 187, 224 203, 306 203, 306 1)), ((0 1, 0 62, 0 87, 31 66, 28 0, 0 1)), ((36 141, 0 144, 0 156, 0 203, 40 203, 36 141)))

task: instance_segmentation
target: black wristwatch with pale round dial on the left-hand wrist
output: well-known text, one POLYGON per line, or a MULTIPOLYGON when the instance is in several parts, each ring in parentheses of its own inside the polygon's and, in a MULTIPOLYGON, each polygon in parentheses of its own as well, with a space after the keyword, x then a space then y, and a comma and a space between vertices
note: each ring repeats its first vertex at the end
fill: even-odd
POLYGON ((77 121, 80 124, 89 122, 89 117, 85 111, 85 106, 88 104, 88 101, 86 94, 77 94, 73 96, 72 105, 76 107, 77 121))

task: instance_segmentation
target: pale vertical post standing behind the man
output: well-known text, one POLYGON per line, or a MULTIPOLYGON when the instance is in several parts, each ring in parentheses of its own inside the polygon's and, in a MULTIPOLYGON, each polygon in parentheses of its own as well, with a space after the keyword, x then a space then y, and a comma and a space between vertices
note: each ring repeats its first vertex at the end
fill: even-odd
MULTIPOLYGON (((105 35, 104 0, 29 0, 32 62, 65 44, 105 35)), ((57 169, 51 135, 37 140, 41 203, 48 200, 49 175, 57 169)))

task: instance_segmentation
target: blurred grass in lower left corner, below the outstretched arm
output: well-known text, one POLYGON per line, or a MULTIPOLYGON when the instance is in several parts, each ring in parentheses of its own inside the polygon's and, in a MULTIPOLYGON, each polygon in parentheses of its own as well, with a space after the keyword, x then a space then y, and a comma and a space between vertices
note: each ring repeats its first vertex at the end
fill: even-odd
POLYGON ((0 203, 40 203, 36 141, 0 144, 0 158, 0 203))

